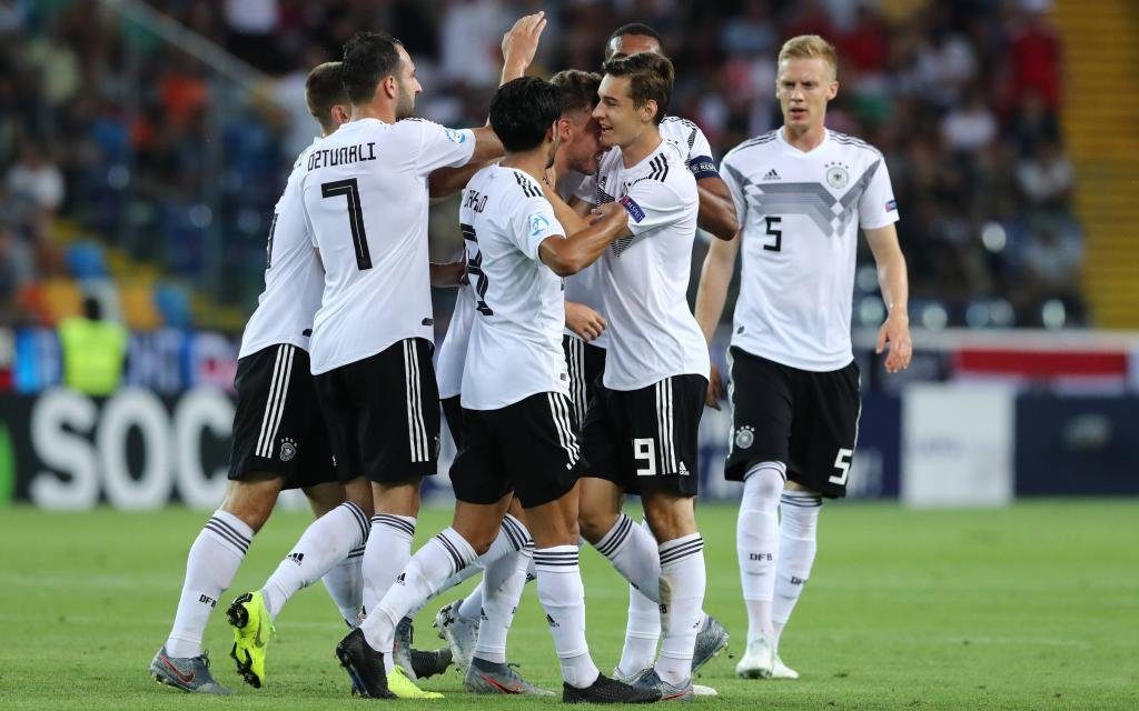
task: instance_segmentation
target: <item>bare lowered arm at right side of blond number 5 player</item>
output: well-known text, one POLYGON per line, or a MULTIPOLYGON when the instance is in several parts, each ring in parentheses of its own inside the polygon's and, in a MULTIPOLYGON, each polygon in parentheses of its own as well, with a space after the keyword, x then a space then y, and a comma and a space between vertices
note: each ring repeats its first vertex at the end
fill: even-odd
POLYGON ((898 229, 893 223, 884 228, 863 230, 866 241, 874 253, 878 267, 878 287, 886 303, 886 321, 878 329, 878 345, 875 353, 882 353, 890 344, 886 356, 886 372, 896 373, 910 365, 913 344, 910 340, 909 298, 910 287, 906 268, 906 256, 898 243, 898 229))

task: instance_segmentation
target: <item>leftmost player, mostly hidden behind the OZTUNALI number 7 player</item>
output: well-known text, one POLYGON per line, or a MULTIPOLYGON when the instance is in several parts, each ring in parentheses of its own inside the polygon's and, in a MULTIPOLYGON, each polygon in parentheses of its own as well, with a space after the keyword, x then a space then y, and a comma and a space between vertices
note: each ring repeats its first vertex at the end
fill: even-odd
MULTIPOLYGON (((347 122, 351 106, 341 82, 341 63, 325 63, 309 74, 305 99, 322 135, 347 122)), ((188 692, 229 693, 210 671, 202 637, 280 491, 303 488, 318 516, 344 505, 344 488, 333 469, 309 374, 309 333, 325 275, 309 245, 297 196, 297 176, 308 155, 309 149, 297 158, 273 210, 265 290, 241 338, 226 498, 190 547, 174 626, 150 662, 150 673, 158 681, 188 692)), ((362 554, 362 547, 352 548, 323 576, 350 623, 355 622, 360 607, 362 554)), ((260 677, 255 678, 260 684, 260 677)))

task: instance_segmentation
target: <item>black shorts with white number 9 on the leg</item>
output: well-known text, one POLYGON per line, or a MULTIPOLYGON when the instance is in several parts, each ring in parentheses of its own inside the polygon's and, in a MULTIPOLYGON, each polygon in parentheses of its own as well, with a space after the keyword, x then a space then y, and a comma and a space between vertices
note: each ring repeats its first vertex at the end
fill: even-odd
POLYGON ((590 477, 629 494, 645 489, 699 493, 697 430, 708 379, 672 375, 639 390, 604 385, 585 414, 582 441, 590 477))

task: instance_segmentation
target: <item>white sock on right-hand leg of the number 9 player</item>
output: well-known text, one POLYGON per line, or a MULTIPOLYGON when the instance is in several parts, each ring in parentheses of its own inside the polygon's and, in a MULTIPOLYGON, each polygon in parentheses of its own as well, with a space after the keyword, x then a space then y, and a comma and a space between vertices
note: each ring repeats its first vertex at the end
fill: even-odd
POLYGON ((661 544, 661 656, 656 672, 677 686, 693 678, 693 648, 700 627, 706 586, 704 539, 699 534, 661 544))

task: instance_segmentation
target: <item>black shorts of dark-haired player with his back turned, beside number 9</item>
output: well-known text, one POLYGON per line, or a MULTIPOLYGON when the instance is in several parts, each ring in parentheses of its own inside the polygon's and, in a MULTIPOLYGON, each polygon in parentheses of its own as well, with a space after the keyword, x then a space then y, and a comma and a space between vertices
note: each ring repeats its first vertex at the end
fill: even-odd
POLYGON ((493 504, 509 491, 523 509, 565 496, 585 471, 573 403, 539 392, 498 410, 462 410, 462 448, 451 465, 454 497, 493 504))

